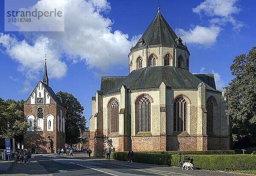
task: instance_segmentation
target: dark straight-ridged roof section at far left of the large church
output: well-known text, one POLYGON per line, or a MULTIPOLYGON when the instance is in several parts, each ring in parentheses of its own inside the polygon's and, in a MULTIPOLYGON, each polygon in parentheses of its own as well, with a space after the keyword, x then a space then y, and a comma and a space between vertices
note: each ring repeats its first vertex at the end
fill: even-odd
POLYGON ((100 90, 103 94, 111 91, 125 77, 102 77, 100 90))

